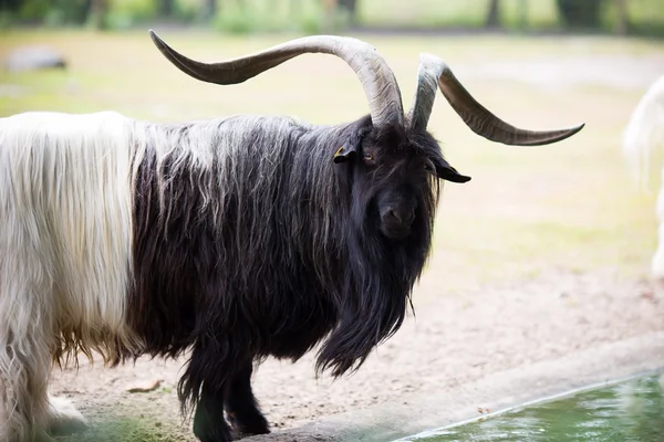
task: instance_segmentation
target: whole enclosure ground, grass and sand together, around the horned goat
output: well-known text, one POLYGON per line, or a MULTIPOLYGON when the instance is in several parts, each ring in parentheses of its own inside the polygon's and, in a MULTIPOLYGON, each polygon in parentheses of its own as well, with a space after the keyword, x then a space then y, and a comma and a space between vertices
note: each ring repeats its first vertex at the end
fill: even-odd
MULTIPOLYGON (((289 38, 160 34, 175 49, 209 61, 289 38)), ((587 127, 548 147, 496 145, 470 133, 438 95, 429 129, 450 164, 473 180, 446 185, 434 253, 414 295, 417 319, 408 318, 360 372, 334 383, 314 379, 311 356, 292 366, 268 360, 255 377, 256 392, 276 428, 397 400, 404 392, 443 394, 488 372, 664 329, 664 298, 645 281, 655 248, 658 170, 653 167, 652 191, 637 192, 620 152, 630 113, 664 71, 664 43, 361 38, 392 65, 406 108, 418 53, 429 52, 510 123, 587 127)), ((163 60, 146 32, 9 32, 0 39, 0 55, 35 42, 61 50, 71 69, 1 72, 0 116, 114 109, 155 120, 257 113, 334 124, 367 110, 350 67, 329 55, 304 55, 236 86, 185 76, 163 60)), ((113 370, 83 362, 77 372, 54 372, 54 392, 73 398, 95 427, 66 441, 193 440, 176 401, 181 362, 141 359, 113 370), (164 380, 155 391, 125 391, 154 379, 164 380)))

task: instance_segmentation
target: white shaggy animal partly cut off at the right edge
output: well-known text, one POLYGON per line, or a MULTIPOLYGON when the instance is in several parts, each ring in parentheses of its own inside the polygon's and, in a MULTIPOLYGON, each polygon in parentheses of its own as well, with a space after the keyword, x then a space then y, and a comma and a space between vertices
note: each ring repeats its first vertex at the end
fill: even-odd
MULTIPOLYGON (((650 158, 664 150, 664 75, 655 81, 641 98, 623 133, 623 152, 639 177, 640 186, 647 182, 650 158)), ((664 280, 664 165, 657 196, 657 251, 651 262, 653 276, 664 280)))

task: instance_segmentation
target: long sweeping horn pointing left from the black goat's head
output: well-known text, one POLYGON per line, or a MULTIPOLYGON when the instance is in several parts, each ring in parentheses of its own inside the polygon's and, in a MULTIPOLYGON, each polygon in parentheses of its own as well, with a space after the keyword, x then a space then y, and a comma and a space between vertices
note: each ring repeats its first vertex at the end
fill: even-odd
POLYGON ((332 35, 305 36, 251 55, 219 63, 201 63, 175 51, 152 29, 149 36, 162 54, 185 74, 216 84, 242 83, 304 53, 336 55, 357 74, 369 101, 374 126, 404 123, 401 92, 394 73, 373 46, 357 39, 332 35))

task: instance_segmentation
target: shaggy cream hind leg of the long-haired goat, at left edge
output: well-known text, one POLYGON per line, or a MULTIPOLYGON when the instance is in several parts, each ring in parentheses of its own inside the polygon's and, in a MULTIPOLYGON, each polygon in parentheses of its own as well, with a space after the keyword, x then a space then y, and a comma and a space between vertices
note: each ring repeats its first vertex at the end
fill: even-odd
POLYGON ((56 344, 52 283, 40 265, 48 253, 10 233, 0 232, 0 441, 50 440, 59 408, 48 396, 56 344))

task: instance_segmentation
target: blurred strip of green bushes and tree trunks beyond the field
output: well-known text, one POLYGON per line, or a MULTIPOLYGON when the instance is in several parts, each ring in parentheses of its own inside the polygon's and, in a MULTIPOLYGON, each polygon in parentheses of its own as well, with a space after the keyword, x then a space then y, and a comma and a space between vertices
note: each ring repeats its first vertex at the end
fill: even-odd
POLYGON ((508 30, 662 35, 662 0, 1 0, 0 28, 123 30, 154 21, 222 32, 508 30))

